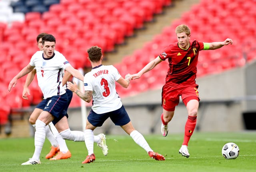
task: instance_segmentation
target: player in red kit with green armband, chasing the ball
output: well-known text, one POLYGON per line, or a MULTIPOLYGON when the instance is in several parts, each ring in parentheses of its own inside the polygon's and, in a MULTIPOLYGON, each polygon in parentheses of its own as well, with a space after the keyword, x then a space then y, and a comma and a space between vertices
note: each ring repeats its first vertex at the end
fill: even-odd
POLYGON ((138 79, 142 74, 150 71, 156 65, 168 59, 169 69, 166 83, 162 88, 162 125, 161 133, 164 137, 168 134, 168 123, 172 120, 175 107, 180 102, 180 96, 188 111, 185 125, 185 134, 179 153, 187 158, 188 142, 196 127, 196 117, 199 106, 198 84, 196 84, 196 65, 198 54, 201 50, 214 50, 224 45, 232 44, 232 39, 223 42, 204 43, 190 41, 190 29, 187 25, 178 25, 175 29, 178 42, 168 45, 156 59, 148 63, 140 72, 132 74, 129 80, 138 79))

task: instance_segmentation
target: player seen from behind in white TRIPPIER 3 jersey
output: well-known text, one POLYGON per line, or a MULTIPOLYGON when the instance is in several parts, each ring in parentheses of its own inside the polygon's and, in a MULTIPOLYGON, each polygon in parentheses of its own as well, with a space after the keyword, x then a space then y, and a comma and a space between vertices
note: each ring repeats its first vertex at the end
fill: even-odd
POLYGON ((102 126, 104 121, 110 117, 115 125, 119 125, 132 139, 142 147, 151 158, 156 160, 165 160, 164 156, 154 152, 142 134, 136 131, 130 121, 130 118, 122 105, 121 99, 116 92, 116 83, 127 88, 129 81, 124 79, 113 66, 102 65, 102 51, 100 47, 93 46, 88 49, 88 60, 92 65, 92 70, 84 76, 84 90, 82 93, 78 90, 76 83, 68 82, 67 88, 75 92, 86 102, 92 100, 92 110, 90 111, 85 130, 85 144, 88 150, 88 156, 82 162, 90 163, 95 160, 93 150, 93 130, 102 126))

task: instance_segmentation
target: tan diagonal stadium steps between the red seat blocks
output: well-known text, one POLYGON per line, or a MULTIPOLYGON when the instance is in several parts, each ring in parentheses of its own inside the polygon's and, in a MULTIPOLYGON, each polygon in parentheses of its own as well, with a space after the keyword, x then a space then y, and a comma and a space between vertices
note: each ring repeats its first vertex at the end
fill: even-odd
MULTIPOLYGON (((122 58, 127 55, 132 55, 135 50, 142 49, 143 45, 151 41, 153 37, 162 32, 164 27, 170 26, 172 22, 179 19, 182 14, 200 0, 172 0, 172 5, 163 9, 163 14, 154 16, 154 22, 144 24, 145 29, 137 29, 134 31, 133 37, 127 37, 124 45, 116 45, 116 52, 105 53, 104 65, 114 65, 120 63, 122 58)), ((173 31, 174 32, 174 31, 173 31)))

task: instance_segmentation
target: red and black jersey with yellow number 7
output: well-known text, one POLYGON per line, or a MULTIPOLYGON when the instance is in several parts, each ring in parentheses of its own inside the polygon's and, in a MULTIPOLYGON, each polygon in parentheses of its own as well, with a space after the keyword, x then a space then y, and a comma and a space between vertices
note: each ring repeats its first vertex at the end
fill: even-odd
POLYGON ((190 41, 188 49, 181 49, 178 42, 168 45, 159 55, 161 60, 168 59, 169 70, 166 82, 177 84, 194 84, 196 81, 196 65, 198 53, 204 49, 202 41, 190 41))

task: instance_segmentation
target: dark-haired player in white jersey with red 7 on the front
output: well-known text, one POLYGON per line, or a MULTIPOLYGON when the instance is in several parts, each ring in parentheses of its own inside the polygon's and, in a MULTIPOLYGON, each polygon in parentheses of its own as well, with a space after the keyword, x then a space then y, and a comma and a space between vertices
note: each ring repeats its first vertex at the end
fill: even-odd
POLYGON ((55 37, 45 35, 42 37, 43 51, 37 51, 30 63, 24 67, 10 81, 8 91, 17 84, 17 80, 36 68, 38 85, 44 95, 45 107, 36 120, 35 151, 27 162, 22 165, 40 164, 40 154, 44 145, 46 131, 45 127, 51 121, 55 125, 62 138, 72 141, 84 141, 82 131, 70 131, 67 121, 66 107, 68 106, 68 96, 62 86, 64 70, 70 72, 72 76, 83 80, 84 76, 74 69, 66 58, 55 50, 55 37))

